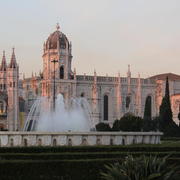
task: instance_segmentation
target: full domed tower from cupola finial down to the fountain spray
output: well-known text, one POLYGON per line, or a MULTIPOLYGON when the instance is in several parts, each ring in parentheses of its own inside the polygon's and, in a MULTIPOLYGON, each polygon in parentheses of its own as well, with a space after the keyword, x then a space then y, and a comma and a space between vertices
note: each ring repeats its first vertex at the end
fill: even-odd
MULTIPOLYGON (((55 97, 61 93, 71 97, 69 89, 74 79, 71 70, 71 43, 57 24, 56 31, 44 43, 42 96, 55 97)), ((73 81, 74 82, 74 81, 73 81)))

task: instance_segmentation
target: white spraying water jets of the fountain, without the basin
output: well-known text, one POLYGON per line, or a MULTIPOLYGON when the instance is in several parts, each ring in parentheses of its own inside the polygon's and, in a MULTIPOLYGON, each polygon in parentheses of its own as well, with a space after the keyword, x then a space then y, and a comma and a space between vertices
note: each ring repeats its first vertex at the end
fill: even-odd
POLYGON ((51 101, 47 97, 40 97, 34 102, 24 131, 83 132, 94 129, 91 108, 85 98, 72 98, 65 102, 59 94, 54 111, 51 110, 51 101))

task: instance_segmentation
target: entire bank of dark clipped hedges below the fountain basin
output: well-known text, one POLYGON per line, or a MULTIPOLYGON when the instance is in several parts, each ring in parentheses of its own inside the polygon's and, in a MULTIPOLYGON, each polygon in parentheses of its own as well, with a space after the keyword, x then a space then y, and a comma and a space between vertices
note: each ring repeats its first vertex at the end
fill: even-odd
POLYGON ((169 164, 180 166, 180 146, 79 146, 0 148, 1 180, 100 180, 104 165, 134 156, 171 154, 169 164))

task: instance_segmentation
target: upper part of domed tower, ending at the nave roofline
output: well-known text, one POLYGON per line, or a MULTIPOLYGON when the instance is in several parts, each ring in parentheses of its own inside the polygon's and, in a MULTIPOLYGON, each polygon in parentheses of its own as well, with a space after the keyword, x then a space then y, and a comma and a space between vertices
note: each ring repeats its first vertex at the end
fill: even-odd
POLYGON ((44 43, 43 54, 43 78, 52 79, 54 76, 55 63, 55 77, 56 79, 71 79, 71 43, 68 41, 65 34, 60 31, 59 24, 57 24, 56 31, 50 34, 47 41, 44 43))

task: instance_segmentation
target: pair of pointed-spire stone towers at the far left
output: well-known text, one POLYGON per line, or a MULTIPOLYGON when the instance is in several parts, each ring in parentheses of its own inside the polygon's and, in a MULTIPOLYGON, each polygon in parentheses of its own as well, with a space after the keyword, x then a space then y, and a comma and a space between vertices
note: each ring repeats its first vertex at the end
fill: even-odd
POLYGON ((16 131, 19 126, 19 66, 13 48, 9 65, 3 52, 0 66, 0 127, 16 131))

